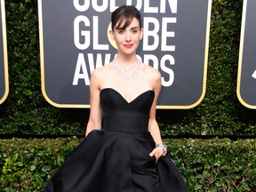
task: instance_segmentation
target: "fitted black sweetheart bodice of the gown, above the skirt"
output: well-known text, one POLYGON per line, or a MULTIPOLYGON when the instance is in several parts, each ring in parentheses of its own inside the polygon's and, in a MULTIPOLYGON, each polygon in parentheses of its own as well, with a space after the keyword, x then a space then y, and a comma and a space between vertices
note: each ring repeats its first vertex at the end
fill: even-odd
POLYGON ((155 92, 142 92, 128 102, 116 90, 105 88, 100 91, 103 110, 103 129, 115 132, 148 132, 148 118, 155 92))

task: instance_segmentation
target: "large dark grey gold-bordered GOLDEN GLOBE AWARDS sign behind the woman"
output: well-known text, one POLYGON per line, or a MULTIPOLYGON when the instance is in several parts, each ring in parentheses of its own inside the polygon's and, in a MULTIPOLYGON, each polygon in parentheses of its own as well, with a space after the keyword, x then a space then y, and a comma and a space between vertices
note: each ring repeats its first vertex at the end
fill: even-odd
POLYGON ((116 57, 109 22, 123 4, 142 14, 137 56, 161 73, 159 108, 195 107, 205 93, 212 0, 38 0, 44 98, 90 107, 92 71, 116 57))

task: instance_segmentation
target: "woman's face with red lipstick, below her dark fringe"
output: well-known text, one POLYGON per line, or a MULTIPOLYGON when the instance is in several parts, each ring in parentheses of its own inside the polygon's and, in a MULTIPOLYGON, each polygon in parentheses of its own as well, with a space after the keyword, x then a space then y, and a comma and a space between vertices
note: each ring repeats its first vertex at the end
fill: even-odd
MULTIPOLYGON (((116 24, 116 26, 118 23, 116 24)), ((136 50, 140 44, 140 39, 143 35, 143 30, 140 28, 139 20, 133 18, 131 24, 127 28, 116 28, 114 31, 110 31, 110 35, 116 42, 116 46, 119 53, 132 54, 136 53, 136 50)))

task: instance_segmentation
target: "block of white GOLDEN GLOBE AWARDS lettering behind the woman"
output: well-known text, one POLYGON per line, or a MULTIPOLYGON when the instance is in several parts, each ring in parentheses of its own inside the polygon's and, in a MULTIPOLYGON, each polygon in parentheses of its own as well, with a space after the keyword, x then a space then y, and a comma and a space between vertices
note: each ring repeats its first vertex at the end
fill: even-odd
MULTIPOLYGON (((172 52, 175 52, 176 45, 173 43, 173 28, 177 23, 178 0, 137 0, 118 3, 134 3, 143 14, 145 33, 140 42, 141 52, 138 53, 138 58, 161 71, 162 85, 170 87, 174 82, 172 67, 175 65, 175 59, 172 52)), ((108 31, 111 29, 111 12, 118 7, 117 1, 102 1, 99 5, 97 1, 84 1, 79 4, 78 0, 74 0, 73 5, 76 11, 81 13, 74 20, 74 44, 77 50, 83 51, 77 56, 73 85, 90 85, 92 71, 111 62, 116 54, 116 43, 108 31)))

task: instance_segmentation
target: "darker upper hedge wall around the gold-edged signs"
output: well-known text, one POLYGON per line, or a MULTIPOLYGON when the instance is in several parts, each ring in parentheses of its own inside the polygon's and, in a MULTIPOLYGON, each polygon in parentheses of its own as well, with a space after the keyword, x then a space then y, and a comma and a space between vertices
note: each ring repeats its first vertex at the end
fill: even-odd
MULTIPOLYGON (((192 109, 159 109, 164 135, 255 135, 256 112, 236 98, 243 0, 212 0, 207 87, 192 109)), ((36 0, 5 0, 10 93, 0 134, 84 135, 88 109, 54 108, 41 92, 36 0)))

